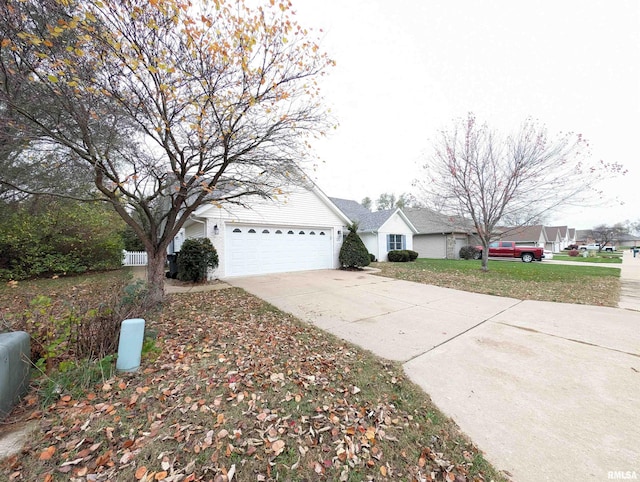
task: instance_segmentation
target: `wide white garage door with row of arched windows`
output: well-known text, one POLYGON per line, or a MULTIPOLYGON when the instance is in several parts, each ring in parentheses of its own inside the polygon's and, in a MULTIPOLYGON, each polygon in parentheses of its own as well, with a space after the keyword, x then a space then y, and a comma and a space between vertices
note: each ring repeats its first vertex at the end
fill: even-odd
POLYGON ((327 228, 228 226, 226 276, 333 268, 327 228))

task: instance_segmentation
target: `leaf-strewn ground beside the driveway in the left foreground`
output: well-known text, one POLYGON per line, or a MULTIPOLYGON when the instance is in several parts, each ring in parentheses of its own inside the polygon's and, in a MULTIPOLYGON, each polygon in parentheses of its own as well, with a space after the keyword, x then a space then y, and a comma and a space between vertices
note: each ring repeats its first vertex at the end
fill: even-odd
POLYGON ((398 365, 242 290, 172 295, 147 327, 138 372, 29 393, 6 479, 503 480, 398 365))

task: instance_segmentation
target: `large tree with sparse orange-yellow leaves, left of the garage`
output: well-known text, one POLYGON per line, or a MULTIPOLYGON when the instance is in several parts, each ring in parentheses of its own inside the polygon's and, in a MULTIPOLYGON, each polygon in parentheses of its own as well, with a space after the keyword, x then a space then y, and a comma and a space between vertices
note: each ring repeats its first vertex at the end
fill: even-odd
POLYGON ((11 170, 2 183, 110 203, 144 243, 160 301, 167 246, 195 209, 277 194, 327 125, 317 78, 333 62, 290 8, 4 0, 0 106, 28 142, 5 159, 93 186, 69 194, 11 170))

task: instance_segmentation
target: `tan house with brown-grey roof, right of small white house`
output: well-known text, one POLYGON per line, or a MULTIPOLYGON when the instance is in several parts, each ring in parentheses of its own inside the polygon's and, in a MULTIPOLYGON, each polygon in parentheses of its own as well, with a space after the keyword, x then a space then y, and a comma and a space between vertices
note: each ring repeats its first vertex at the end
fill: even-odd
POLYGON ((458 216, 447 216, 431 209, 407 209, 407 217, 418 230, 413 249, 420 258, 458 259, 460 248, 476 245, 473 227, 458 216))

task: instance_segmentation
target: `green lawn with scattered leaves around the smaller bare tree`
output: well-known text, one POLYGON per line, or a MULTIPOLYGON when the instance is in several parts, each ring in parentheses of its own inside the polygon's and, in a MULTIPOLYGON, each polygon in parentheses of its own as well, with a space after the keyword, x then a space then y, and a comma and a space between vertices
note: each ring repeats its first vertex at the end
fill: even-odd
POLYGON ((523 300, 617 306, 620 270, 585 265, 418 259, 413 263, 373 263, 381 276, 462 291, 523 300))

